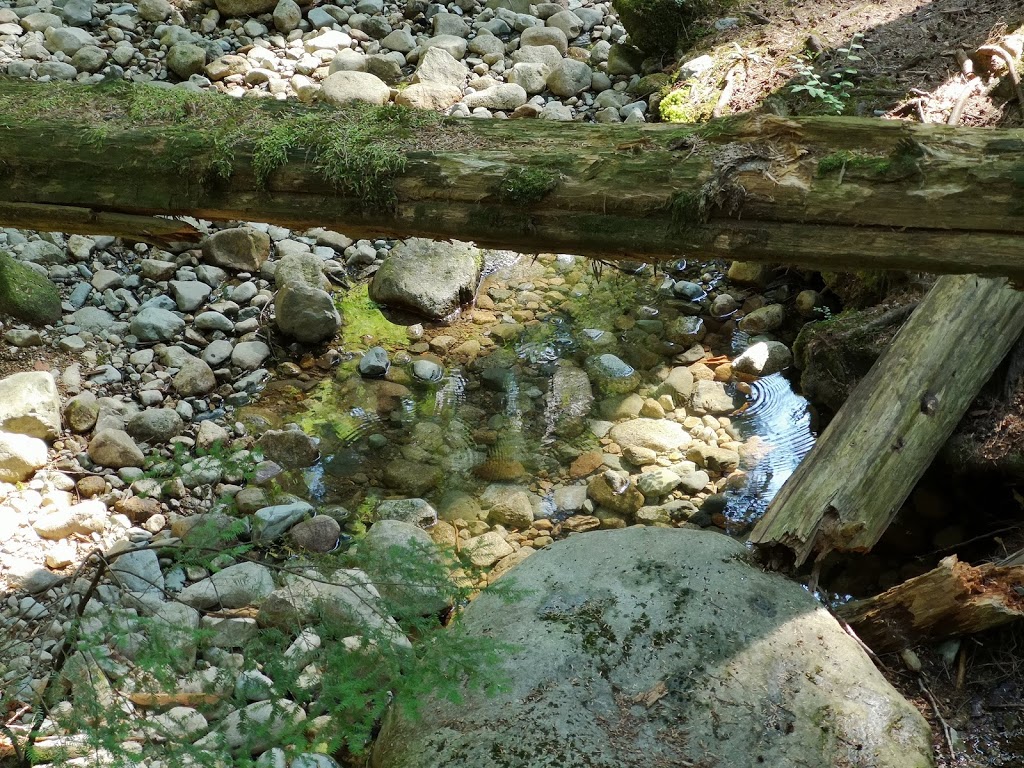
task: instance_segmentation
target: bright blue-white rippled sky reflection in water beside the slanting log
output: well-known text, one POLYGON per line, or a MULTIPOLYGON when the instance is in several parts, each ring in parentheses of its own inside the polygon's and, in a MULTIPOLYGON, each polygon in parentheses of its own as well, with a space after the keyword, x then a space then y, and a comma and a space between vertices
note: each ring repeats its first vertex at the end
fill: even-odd
POLYGON ((807 400, 795 394, 782 374, 772 374, 751 384, 750 407, 733 420, 751 438, 744 455, 746 484, 729 493, 726 515, 736 522, 752 522, 814 447, 807 400))

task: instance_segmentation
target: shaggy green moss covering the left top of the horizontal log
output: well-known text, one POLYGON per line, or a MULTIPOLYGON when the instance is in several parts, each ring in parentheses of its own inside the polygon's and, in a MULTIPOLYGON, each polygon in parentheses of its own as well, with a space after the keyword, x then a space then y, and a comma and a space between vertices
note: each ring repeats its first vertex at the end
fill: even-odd
POLYGON ((0 95, 0 126, 81 119, 92 144, 116 130, 159 127, 167 150, 161 155, 201 183, 230 177, 237 156, 251 153, 257 181, 266 186, 294 157, 367 208, 394 203, 392 180, 404 169, 406 153, 426 143, 421 133, 441 125, 435 113, 393 104, 299 108, 128 83, 48 83, 38 94, 26 88, 0 95))

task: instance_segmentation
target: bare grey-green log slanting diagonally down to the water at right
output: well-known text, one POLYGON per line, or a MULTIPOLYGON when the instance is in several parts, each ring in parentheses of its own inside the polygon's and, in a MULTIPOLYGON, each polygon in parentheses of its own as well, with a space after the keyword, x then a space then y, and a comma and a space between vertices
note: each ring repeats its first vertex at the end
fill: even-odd
POLYGON ((870 550, 1022 330, 1006 279, 936 281, 750 541, 776 566, 870 550))

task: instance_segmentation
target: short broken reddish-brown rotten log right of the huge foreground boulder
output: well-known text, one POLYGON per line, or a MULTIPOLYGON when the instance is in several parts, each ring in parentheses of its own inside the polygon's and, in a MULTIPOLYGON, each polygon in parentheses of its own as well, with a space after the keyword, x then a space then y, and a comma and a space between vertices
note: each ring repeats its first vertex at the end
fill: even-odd
POLYGON ((938 567, 837 613, 879 653, 984 632, 1024 617, 1024 566, 974 566, 950 555, 938 567))

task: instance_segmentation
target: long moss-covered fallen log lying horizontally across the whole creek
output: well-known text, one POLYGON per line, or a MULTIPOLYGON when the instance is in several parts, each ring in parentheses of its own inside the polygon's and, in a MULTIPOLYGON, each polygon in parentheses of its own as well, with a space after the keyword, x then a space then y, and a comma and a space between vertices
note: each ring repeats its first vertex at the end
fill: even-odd
MULTIPOLYGON (((150 103, 156 90, 0 80, 0 203, 610 259, 1024 278, 1020 130, 752 115, 700 126, 442 120, 411 135, 408 121, 392 129, 383 113, 361 112, 355 127, 376 121, 377 132, 360 144, 354 131, 332 156, 282 139, 289 121, 344 124, 348 113, 242 99, 249 117, 230 132, 225 121, 189 121, 207 109, 199 101, 180 114, 138 109, 139 94, 150 103), (373 202, 357 174, 323 178, 330 158, 382 146, 396 147, 398 162, 373 202), (274 152, 280 167, 261 167, 274 152)), ((52 228, 79 226, 50 211, 52 228)))

